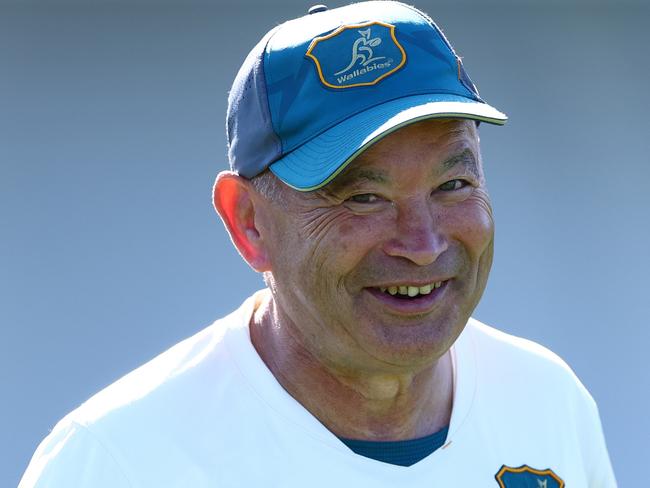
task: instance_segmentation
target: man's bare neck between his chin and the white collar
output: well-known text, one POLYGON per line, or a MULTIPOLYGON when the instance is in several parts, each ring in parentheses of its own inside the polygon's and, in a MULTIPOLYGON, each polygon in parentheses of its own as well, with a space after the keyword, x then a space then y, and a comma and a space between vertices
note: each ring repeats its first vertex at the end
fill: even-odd
POLYGON ((319 360, 282 320, 273 300, 251 319, 251 341, 284 389, 339 437, 403 440, 449 424, 453 373, 449 351, 414 371, 350 370, 319 360))

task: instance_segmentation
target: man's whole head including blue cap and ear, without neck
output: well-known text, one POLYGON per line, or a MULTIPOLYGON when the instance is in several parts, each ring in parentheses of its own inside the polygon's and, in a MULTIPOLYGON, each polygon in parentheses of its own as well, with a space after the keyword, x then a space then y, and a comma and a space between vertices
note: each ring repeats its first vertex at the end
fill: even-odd
POLYGON ((350 370, 411 369, 449 349, 484 290, 493 222, 476 121, 505 116, 480 100, 428 17, 395 2, 337 10, 283 24, 249 55, 230 100, 234 171, 217 178, 215 207, 312 354, 350 370), (308 39, 289 43, 283 28, 308 39), (333 71, 326 48, 337 47, 345 62, 333 71), (380 58, 392 64, 361 72, 380 58), (260 87, 261 142, 243 125, 260 87))

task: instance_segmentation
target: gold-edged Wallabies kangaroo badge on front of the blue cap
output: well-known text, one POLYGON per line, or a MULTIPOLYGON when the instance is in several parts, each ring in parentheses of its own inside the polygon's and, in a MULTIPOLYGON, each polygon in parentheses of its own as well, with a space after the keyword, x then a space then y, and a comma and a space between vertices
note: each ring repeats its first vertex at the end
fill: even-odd
POLYGON ((314 61, 321 83, 329 88, 374 85, 406 63, 395 26, 383 22, 345 25, 316 37, 306 56, 314 61))

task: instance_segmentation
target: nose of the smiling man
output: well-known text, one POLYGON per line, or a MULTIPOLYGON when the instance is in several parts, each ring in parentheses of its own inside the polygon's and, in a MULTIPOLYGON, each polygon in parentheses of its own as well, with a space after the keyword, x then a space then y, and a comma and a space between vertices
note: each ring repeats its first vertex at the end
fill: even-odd
POLYGON ((384 244, 389 256, 403 257, 420 266, 433 263, 449 242, 436 222, 428 203, 398 207, 395 232, 384 244))

